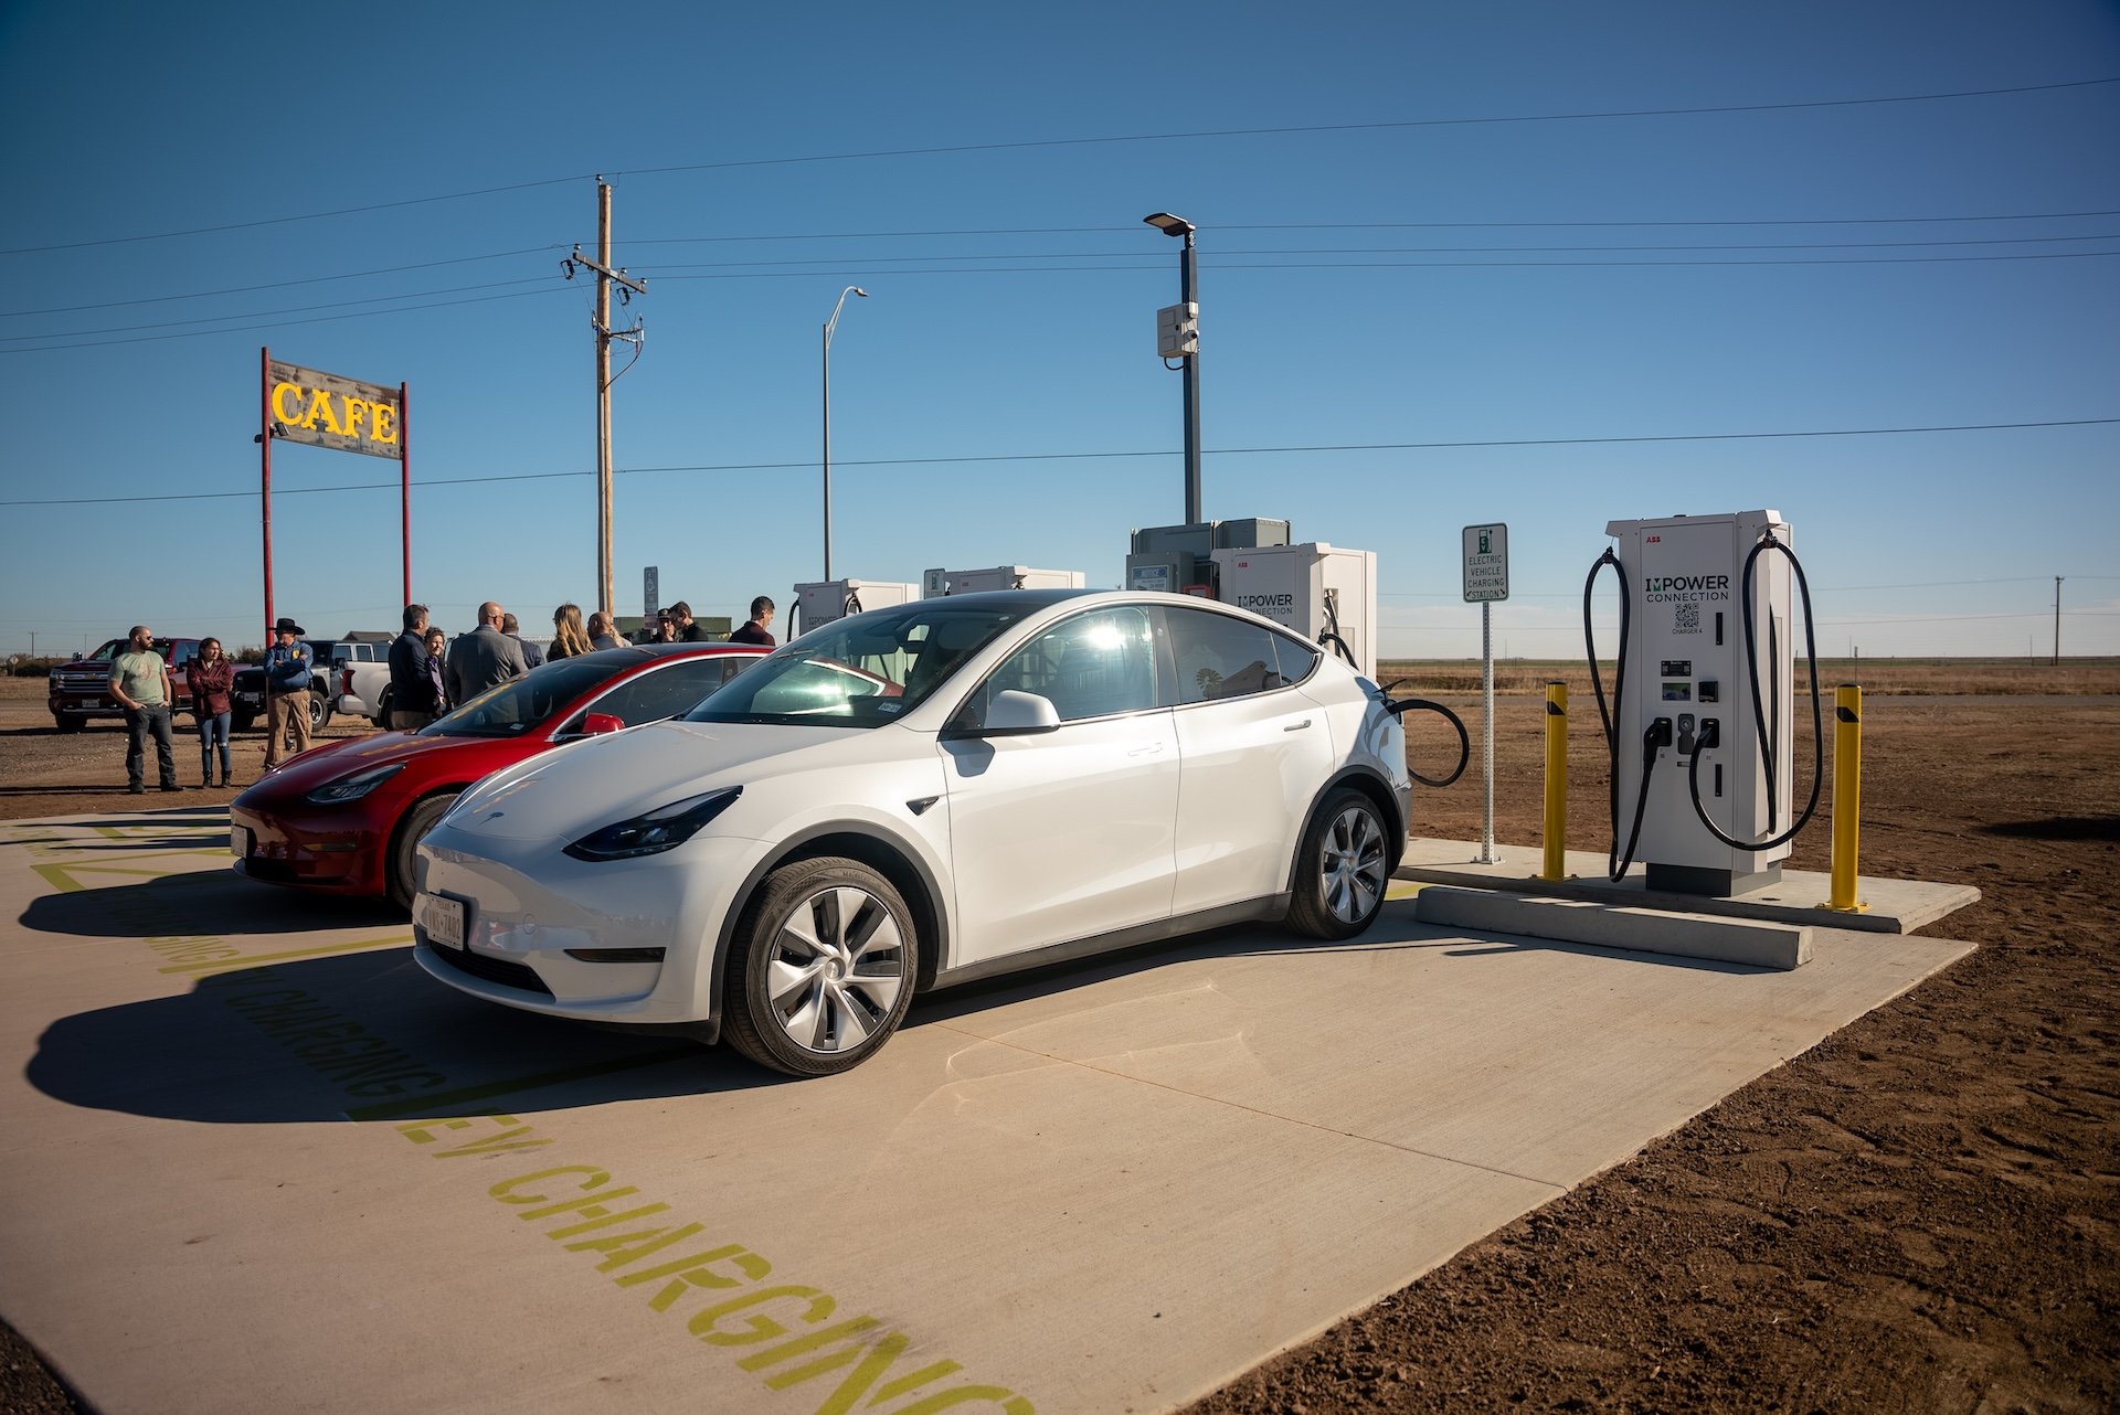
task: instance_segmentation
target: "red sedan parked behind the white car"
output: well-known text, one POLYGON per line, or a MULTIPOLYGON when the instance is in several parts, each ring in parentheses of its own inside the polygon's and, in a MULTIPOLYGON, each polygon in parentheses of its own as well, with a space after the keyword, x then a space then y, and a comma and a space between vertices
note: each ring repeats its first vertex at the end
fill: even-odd
POLYGON ((757 644, 642 644, 560 659, 413 733, 303 752, 229 807, 235 871, 411 909, 413 845, 458 792, 526 756, 655 722, 765 657, 757 644))

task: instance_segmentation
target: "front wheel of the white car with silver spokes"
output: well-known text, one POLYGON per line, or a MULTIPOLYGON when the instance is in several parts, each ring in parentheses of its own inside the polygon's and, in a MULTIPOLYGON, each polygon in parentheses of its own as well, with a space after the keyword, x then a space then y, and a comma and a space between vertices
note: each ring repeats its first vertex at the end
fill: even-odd
POLYGON ((912 911, 859 860, 797 860, 765 877, 736 924, 723 979, 729 1042, 789 1076, 867 1061, 912 1004, 912 911))

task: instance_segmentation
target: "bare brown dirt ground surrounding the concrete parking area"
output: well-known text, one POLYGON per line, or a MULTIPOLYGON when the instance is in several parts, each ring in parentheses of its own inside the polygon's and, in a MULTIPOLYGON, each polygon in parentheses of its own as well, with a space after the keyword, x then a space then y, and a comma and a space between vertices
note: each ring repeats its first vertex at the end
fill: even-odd
MULTIPOLYGON (((1198 1415, 2120 1411, 2120 665, 1832 667, 1866 684, 1863 875, 1978 885, 1929 932, 1980 949, 1198 1415)), ((1416 832, 1478 839, 1478 693, 1406 671, 1473 729, 1416 832)), ((1571 678, 1569 843, 1603 849, 1596 708, 1571 678)), ((1543 674, 1499 682, 1497 839, 1531 852, 1543 674)), ((1454 739, 1431 722, 1410 718, 1412 756, 1437 775, 1454 739)), ((257 780, 263 737, 237 741, 257 780)), ((123 756, 121 729, 59 737, 40 684, 0 680, 0 818, 125 809, 123 756)), ((182 729, 178 773, 197 782, 182 729)), ((1794 868, 1827 868, 1830 807, 1827 780, 1794 868)), ((70 1409, 0 1326, 0 1411, 70 1409)))

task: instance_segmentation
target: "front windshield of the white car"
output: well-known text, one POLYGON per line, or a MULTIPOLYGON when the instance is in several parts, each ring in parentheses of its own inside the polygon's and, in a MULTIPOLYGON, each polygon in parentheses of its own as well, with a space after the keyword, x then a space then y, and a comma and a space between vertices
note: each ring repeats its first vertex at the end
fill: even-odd
POLYGON ((1030 608, 948 597, 812 629, 685 714, 689 722, 880 727, 918 708, 1030 608))

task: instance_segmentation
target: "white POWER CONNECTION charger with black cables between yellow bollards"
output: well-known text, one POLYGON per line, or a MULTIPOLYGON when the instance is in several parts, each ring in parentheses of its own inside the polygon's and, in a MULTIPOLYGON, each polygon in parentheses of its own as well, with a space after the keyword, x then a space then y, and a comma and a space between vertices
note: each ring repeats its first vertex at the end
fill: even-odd
MULTIPOLYGON (((1774 511, 1741 511, 1609 521, 1605 534, 1618 544, 1590 570, 1584 633, 1590 587, 1615 563, 1611 877, 1639 858, 1651 890, 1730 896, 1772 885, 1819 786, 1813 771, 1810 805, 1791 822, 1791 580, 1802 585, 1791 530, 1774 511)), ((1810 661, 1817 716, 1815 646, 1810 661)), ((1603 714, 1594 644, 1590 671, 1603 714)))

